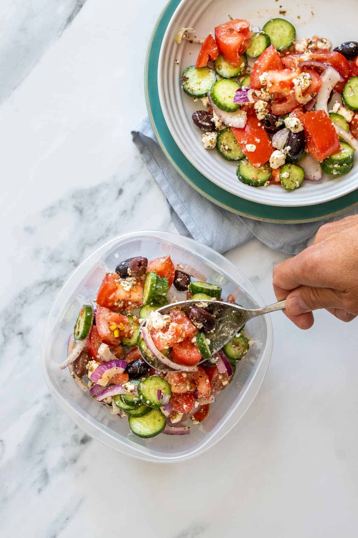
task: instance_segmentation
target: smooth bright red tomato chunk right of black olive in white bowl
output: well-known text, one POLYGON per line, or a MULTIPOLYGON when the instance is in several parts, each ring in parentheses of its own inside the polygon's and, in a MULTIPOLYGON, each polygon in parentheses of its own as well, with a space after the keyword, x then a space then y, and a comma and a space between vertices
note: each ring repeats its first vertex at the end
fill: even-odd
POLYGON ((303 124, 306 137, 306 150, 313 158, 322 162, 340 149, 337 131, 324 110, 295 112, 303 124))

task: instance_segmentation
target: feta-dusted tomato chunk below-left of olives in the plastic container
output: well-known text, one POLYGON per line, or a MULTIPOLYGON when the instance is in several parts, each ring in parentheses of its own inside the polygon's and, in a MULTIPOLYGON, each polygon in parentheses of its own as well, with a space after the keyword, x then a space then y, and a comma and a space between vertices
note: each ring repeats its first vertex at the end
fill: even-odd
POLYGON ((120 312, 128 306, 142 306, 142 304, 142 280, 127 281, 121 279, 117 273, 106 274, 97 293, 97 305, 120 312))

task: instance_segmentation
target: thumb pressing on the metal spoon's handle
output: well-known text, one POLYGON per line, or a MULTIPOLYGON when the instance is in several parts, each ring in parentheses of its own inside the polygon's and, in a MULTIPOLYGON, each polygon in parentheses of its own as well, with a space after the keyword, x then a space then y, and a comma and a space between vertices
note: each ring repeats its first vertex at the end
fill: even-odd
POLYGON ((312 288, 299 286, 286 298, 286 314, 299 316, 319 308, 342 308, 344 300, 341 292, 331 288, 312 288))

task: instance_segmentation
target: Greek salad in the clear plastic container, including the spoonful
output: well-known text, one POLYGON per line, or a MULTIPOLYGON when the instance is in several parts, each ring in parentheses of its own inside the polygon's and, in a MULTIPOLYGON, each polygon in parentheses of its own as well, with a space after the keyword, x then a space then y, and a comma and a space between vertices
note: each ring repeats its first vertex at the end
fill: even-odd
POLYGON ((193 267, 174 266, 169 255, 126 259, 106 273, 93 301, 97 308, 91 301, 82 306, 60 368, 68 367, 78 387, 112 414, 127 417, 135 435, 187 435, 187 422, 206 419, 253 342, 243 327, 211 356, 216 319, 205 301, 222 301, 221 294, 193 267), (200 300, 188 315, 176 307, 178 292, 200 300), (169 303, 169 314, 157 312, 169 303), (155 370, 143 356, 176 371, 155 370))

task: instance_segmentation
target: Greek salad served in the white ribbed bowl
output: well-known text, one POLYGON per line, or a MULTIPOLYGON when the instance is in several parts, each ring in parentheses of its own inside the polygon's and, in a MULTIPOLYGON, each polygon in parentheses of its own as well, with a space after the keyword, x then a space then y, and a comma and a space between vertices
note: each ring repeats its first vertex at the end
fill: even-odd
POLYGON ((287 191, 325 173, 350 172, 358 150, 358 42, 332 48, 319 36, 296 39, 274 18, 260 29, 243 19, 215 27, 215 38, 181 28, 177 43, 201 48, 181 75, 185 93, 204 110, 192 119, 207 150, 238 161, 237 177, 252 187, 287 191))

